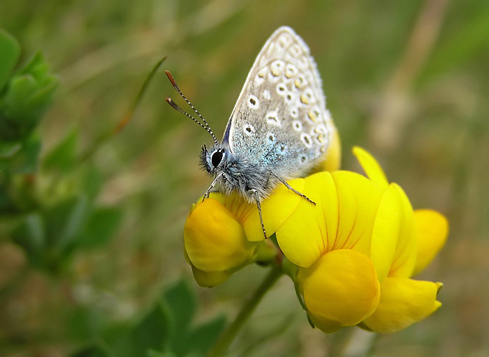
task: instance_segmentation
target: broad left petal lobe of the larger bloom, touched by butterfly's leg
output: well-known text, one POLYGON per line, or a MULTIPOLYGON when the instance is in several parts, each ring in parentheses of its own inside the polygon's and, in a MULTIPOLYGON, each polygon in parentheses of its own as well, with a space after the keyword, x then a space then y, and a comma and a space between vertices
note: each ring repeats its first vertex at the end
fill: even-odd
POLYGON ((315 203, 300 197, 295 211, 277 230, 277 242, 293 264, 311 266, 332 245, 337 231, 337 193, 329 172, 305 179, 303 193, 315 203))

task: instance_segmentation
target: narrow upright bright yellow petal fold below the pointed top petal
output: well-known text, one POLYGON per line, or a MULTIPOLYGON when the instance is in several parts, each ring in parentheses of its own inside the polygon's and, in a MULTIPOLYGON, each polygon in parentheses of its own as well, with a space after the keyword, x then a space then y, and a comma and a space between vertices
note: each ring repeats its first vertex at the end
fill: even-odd
POLYGON ((389 185, 375 215, 370 248, 370 259, 377 269, 379 282, 383 282, 391 270, 401 229, 401 206, 399 191, 395 186, 389 185))

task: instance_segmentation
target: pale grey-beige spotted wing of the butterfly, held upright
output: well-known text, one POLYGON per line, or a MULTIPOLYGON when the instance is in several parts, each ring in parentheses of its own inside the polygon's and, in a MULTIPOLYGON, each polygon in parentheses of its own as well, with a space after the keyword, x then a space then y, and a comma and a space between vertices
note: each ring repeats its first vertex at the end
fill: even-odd
POLYGON ((293 29, 280 27, 249 71, 223 143, 289 179, 321 160, 333 130, 309 48, 293 29))

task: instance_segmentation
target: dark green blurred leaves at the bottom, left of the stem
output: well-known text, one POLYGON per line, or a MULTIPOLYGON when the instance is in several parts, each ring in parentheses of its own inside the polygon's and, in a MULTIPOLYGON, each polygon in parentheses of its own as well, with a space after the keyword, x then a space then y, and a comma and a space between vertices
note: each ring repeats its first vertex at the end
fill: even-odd
MULTIPOLYGON (((76 351, 71 357, 204 356, 224 328, 217 317, 194 326, 196 299, 184 280, 168 287, 156 306, 134 326, 122 327, 95 338, 95 343, 76 351)), ((89 314, 78 314, 75 326, 87 326, 89 314)), ((86 332, 80 332, 86 337, 86 332)))

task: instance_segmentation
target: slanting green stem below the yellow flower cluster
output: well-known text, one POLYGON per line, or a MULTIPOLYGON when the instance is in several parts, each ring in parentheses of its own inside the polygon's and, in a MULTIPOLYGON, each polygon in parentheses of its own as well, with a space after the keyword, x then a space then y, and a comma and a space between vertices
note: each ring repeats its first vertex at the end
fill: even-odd
POLYGON ((250 298, 245 302, 245 305, 241 307, 238 316, 236 316, 231 325, 229 325, 228 328, 226 328, 224 333, 221 335, 221 337, 219 337, 219 340, 217 340, 216 344, 214 344, 214 347, 212 347, 212 349, 209 351, 207 357, 219 357, 226 351, 226 349, 228 349, 231 342, 233 342, 236 335, 238 335, 240 328, 242 328, 247 319, 254 312, 255 307, 261 301, 263 296, 265 296, 265 294, 268 292, 268 290, 270 290, 273 284, 275 284, 275 282, 279 280, 279 278, 282 276, 282 273, 282 267, 279 266, 279 264, 274 264, 272 266, 272 269, 265 277, 265 280, 263 280, 263 282, 260 284, 258 289, 256 289, 254 294, 250 296, 250 298))

